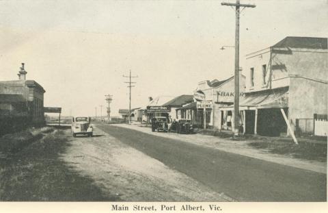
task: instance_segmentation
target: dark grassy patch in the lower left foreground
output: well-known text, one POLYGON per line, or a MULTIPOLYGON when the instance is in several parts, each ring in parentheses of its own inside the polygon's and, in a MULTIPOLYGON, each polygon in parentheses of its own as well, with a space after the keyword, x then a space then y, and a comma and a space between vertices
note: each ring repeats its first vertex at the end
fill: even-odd
POLYGON ((61 160, 62 130, 45 127, 0 138, 0 201, 116 201, 61 160), (2 148, 5 149, 2 149, 2 148))

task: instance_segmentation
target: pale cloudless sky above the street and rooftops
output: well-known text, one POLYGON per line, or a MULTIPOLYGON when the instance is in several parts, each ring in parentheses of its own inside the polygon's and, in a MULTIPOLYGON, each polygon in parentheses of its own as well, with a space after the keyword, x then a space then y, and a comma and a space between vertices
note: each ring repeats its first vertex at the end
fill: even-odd
MULTIPOLYGON (((223 1, 0 1, 0 81, 27 79, 46 90, 44 106, 63 115, 128 109, 123 75, 133 79, 132 108, 148 97, 193 94, 203 80, 234 73, 234 9, 223 1)), ((234 2, 234 1, 224 1, 234 2)), ((245 55, 286 36, 326 37, 328 1, 256 1, 241 12, 245 55)))

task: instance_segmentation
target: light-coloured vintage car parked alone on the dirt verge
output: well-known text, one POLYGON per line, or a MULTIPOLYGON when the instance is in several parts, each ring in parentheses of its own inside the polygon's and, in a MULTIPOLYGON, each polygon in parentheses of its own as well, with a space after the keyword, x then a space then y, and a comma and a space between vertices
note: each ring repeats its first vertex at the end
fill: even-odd
POLYGON ((75 137, 77 134, 93 136, 93 127, 91 125, 91 118, 85 116, 72 117, 72 136, 75 137))

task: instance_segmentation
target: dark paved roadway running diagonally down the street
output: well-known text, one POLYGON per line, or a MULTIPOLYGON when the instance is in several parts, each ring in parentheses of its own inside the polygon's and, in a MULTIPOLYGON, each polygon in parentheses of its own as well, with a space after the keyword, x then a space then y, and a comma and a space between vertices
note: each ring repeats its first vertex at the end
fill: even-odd
POLYGON ((98 124, 97 127, 236 201, 326 201, 327 181, 323 173, 152 136, 133 129, 106 124, 98 124))

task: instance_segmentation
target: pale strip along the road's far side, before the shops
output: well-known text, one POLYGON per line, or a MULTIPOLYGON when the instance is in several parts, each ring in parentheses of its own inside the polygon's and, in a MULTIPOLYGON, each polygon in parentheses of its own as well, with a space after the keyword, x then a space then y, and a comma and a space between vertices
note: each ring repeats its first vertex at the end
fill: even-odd
POLYGON ((269 149, 258 149, 252 147, 250 144, 255 140, 231 140, 229 138, 219 138, 215 136, 208 136, 204 134, 176 134, 176 133, 163 133, 152 132, 149 127, 142 127, 140 124, 111 124, 118 127, 124 127, 127 129, 134 129, 146 134, 154 136, 160 136, 163 138, 172 138, 181 140, 184 142, 191 142, 195 145, 204 147, 211 147, 213 149, 219 149, 230 153, 236 153, 239 155, 245 155, 251 158, 257 158, 260 160, 266 160, 269 162, 275 162, 277 164, 284 164, 286 166, 293 166, 296 168, 302 168, 308 171, 315 171, 318 173, 327 174, 327 160, 307 160, 302 158, 295 158, 293 155, 271 153, 269 149))

